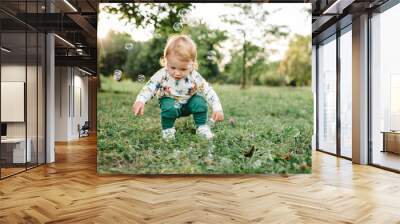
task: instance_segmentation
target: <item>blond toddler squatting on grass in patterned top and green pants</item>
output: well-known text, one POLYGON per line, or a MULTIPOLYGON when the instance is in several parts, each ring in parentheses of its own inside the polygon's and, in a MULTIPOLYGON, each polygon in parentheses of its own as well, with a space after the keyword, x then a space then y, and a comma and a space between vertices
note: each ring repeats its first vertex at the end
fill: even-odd
POLYGON ((163 139, 175 138, 175 120, 193 114, 196 133, 206 139, 213 134, 207 125, 209 103, 211 119, 222 121, 224 114, 219 98, 208 82, 197 72, 197 47, 186 35, 168 39, 161 59, 162 69, 157 71, 139 92, 132 106, 133 113, 143 115, 144 105, 157 95, 161 109, 163 139))

